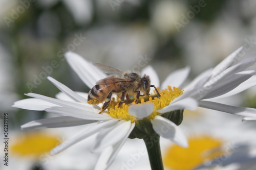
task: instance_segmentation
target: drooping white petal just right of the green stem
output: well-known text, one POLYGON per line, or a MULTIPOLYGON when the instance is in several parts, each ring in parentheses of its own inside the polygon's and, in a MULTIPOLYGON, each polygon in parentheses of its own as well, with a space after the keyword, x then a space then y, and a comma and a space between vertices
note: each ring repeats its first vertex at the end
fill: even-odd
POLYGON ((188 147, 186 136, 175 123, 162 116, 156 116, 151 120, 151 123, 158 135, 177 143, 183 148, 188 147))

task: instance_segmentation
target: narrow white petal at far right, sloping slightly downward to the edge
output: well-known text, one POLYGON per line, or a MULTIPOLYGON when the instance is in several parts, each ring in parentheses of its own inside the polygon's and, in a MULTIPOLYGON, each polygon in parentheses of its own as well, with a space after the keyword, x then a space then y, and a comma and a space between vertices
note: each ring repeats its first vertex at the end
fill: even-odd
POLYGON ((244 116, 243 120, 256 120, 256 109, 254 108, 230 106, 209 101, 199 101, 198 103, 203 108, 244 116))

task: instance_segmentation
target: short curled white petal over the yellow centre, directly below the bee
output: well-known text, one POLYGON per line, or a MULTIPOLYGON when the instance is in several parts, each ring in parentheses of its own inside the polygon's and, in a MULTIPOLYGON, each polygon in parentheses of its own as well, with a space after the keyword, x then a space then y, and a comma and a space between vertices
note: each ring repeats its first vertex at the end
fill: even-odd
POLYGON ((131 105, 129 108, 129 114, 143 119, 149 116, 154 111, 154 105, 152 103, 145 103, 141 105, 131 105))

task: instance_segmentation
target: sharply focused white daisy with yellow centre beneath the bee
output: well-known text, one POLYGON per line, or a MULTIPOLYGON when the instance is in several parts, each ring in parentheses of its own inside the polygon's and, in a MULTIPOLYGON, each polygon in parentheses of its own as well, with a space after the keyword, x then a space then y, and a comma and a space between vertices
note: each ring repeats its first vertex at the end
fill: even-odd
MULTIPOLYGON (((61 115, 54 118, 35 120, 23 125, 23 129, 56 128, 96 123, 76 137, 60 144, 51 153, 56 154, 80 140, 98 133, 92 146, 92 151, 101 152, 96 169, 106 169, 114 161, 128 137, 143 138, 145 143, 148 143, 146 140, 152 141, 152 137, 155 137, 156 139, 154 140, 158 140, 158 142, 156 144, 153 142, 153 149, 156 150, 159 150, 159 135, 182 147, 187 147, 186 137, 177 126, 182 122, 183 109, 193 110, 199 105, 209 109, 241 115, 245 117, 245 120, 256 119, 256 109, 205 101, 205 99, 217 98, 221 97, 221 95, 233 95, 255 85, 255 82, 248 85, 248 82, 255 78, 253 76, 255 70, 244 71, 248 66, 255 63, 255 58, 230 66, 237 60, 241 50, 242 48, 239 48, 214 69, 199 75, 184 90, 177 87, 186 80, 189 73, 188 67, 177 70, 166 78, 160 87, 160 98, 154 98, 154 95, 151 95, 149 98, 141 98, 139 101, 141 104, 123 104, 122 107, 117 107, 117 102, 112 101, 108 110, 102 114, 98 114, 100 112, 99 106, 87 104, 87 93, 74 92, 51 77, 48 79, 62 91, 62 93, 58 94, 60 99, 28 93, 26 95, 35 99, 17 101, 13 107, 45 110, 61 115), (66 97, 63 98, 63 96, 66 97)), ((75 53, 66 53, 66 59, 81 80, 90 88, 98 80, 106 77, 98 68, 75 53)), ((142 73, 144 71, 151 77, 152 84, 159 86, 158 77, 154 69, 147 67, 142 70, 142 73)), ((161 161, 161 157, 157 157, 159 154, 157 156, 151 154, 152 147, 147 149, 150 160, 160 159, 161 161)), ((154 162, 151 165, 153 168, 154 162)))

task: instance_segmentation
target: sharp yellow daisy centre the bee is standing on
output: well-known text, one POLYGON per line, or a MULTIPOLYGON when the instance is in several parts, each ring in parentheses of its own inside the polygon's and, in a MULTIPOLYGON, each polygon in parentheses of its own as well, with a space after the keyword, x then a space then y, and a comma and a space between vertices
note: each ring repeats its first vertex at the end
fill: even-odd
MULTIPOLYGON (((140 98, 137 105, 141 105, 143 103, 152 103, 154 105, 154 111, 147 118, 154 119, 156 115, 160 114, 157 112, 157 110, 162 109, 165 106, 168 106, 170 102, 172 102, 175 98, 177 98, 182 93, 183 93, 182 89, 179 89, 176 87, 172 88, 168 86, 168 89, 164 89, 160 92, 159 99, 157 98, 156 95, 151 95, 149 97, 144 96, 140 98)), ((133 102, 132 104, 135 104, 135 103, 133 102)), ((130 115, 128 112, 129 106, 130 104, 123 103, 122 107, 118 107, 118 102, 112 101, 112 103, 109 106, 109 110, 106 112, 111 117, 124 119, 124 120, 131 120, 132 122, 135 122, 136 117, 130 115)))

